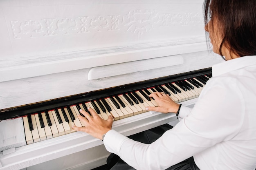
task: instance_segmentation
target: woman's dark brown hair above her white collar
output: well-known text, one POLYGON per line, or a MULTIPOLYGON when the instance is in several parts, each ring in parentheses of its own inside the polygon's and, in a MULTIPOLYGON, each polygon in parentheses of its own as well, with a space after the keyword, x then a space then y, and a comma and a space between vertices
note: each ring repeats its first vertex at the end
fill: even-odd
POLYGON ((205 0, 206 27, 211 19, 221 29, 220 55, 223 45, 240 57, 256 55, 256 0, 205 0))

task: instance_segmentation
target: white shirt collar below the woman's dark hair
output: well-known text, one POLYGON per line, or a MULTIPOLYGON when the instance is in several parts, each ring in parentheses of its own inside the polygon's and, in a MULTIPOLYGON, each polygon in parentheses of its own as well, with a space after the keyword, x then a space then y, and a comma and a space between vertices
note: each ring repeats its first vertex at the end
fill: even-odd
POLYGON ((213 65, 212 75, 215 77, 252 65, 256 66, 256 55, 239 57, 213 65))

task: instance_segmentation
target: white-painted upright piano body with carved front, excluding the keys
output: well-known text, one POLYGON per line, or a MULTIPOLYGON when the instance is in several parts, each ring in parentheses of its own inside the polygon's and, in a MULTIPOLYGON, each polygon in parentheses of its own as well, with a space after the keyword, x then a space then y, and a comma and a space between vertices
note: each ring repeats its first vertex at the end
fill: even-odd
MULTIPOLYGON (((102 141, 83 132, 27 144, 22 117, 27 116, 18 108, 38 106, 38 111, 27 111, 34 115, 53 109, 52 101, 69 107, 85 96, 94 101, 92 93, 95 99, 107 97, 106 89, 114 89, 111 97, 119 87, 130 93, 135 90, 130 86, 149 80, 175 82, 181 76, 185 81, 185 73, 193 78, 222 62, 207 51, 202 3, 0 1, 0 170, 90 170, 105 164, 110 153, 102 141), (74 96, 74 103, 67 102, 74 96), (40 106, 45 103, 51 106, 40 106)), ((193 107, 197 97, 191 98, 179 103, 193 107)), ((126 136, 177 123, 173 113, 124 117, 112 127, 126 136)))

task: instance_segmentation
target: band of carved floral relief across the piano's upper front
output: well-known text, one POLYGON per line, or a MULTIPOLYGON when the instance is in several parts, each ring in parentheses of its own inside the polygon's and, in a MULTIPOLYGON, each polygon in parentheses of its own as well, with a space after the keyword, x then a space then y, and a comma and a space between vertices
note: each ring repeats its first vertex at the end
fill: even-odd
POLYGON ((152 9, 136 9, 120 15, 11 20, 10 25, 14 39, 26 39, 102 31, 142 35, 159 27, 199 25, 202 21, 199 13, 159 13, 152 9))

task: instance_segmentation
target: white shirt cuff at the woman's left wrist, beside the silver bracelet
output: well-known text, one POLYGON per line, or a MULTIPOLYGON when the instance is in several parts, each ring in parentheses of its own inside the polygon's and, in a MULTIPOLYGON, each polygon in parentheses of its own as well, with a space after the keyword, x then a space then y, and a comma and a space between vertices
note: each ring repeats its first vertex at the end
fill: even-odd
POLYGON ((124 141, 126 140, 129 140, 129 138, 111 129, 106 133, 103 143, 105 145, 106 150, 108 150, 108 152, 119 155, 120 148, 124 143, 124 141))

